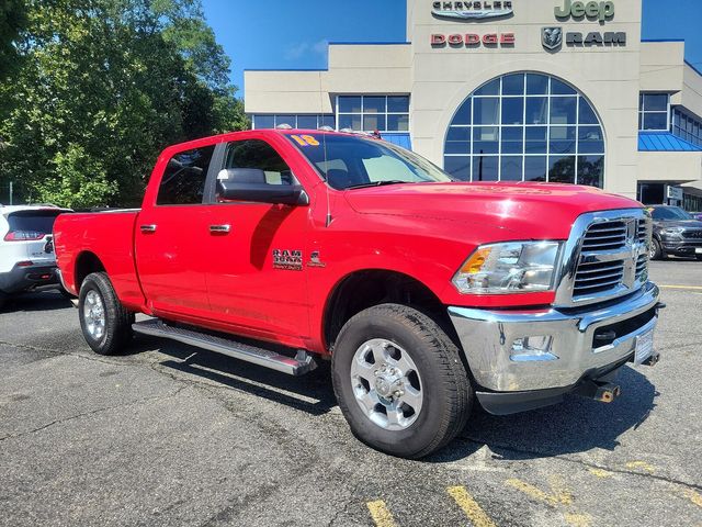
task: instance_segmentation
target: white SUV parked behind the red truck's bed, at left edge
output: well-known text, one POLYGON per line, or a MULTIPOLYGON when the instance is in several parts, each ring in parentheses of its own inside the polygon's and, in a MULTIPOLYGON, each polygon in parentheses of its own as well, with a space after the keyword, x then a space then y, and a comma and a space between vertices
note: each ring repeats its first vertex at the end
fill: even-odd
POLYGON ((0 306, 25 291, 59 289, 54 255, 54 221, 68 209, 0 205, 0 306))

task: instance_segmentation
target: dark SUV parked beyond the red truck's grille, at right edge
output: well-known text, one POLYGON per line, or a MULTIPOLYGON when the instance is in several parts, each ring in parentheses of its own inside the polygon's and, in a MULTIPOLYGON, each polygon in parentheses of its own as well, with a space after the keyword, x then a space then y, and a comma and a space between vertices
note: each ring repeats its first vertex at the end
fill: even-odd
POLYGON ((650 259, 668 255, 697 257, 702 260, 702 221, 679 206, 656 205, 649 209, 654 218, 650 259))

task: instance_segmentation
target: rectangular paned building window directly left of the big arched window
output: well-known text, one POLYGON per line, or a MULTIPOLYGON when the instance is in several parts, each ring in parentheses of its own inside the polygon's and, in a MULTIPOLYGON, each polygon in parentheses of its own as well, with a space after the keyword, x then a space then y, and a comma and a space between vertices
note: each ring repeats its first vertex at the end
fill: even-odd
POLYGON ((339 96, 339 130, 409 132, 409 96, 339 96))

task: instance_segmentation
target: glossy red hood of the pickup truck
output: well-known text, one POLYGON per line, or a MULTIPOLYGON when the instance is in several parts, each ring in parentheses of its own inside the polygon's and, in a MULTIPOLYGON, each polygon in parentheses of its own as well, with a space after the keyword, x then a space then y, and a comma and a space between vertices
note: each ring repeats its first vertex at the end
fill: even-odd
POLYGON ((642 208, 592 187, 553 183, 404 183, 344 194, 360 214, 489 225, 519 239, 566 239, 580 214, 642 208))

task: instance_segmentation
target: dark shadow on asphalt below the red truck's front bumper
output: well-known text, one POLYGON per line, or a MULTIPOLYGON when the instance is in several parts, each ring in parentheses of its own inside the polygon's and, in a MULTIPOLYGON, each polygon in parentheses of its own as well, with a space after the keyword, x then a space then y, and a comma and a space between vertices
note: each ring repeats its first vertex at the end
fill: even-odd
POLYGON ((494 456, 524 460, 600 448, 614 450, 619 437, 636 429, 655 408, 659 395, 638 371, 625 366, 616 381, 622 395, 610 404, 568 396, 562 404, 508 416, 474 412, 468 425, 446 449, 428 461, 465 458, 487 445, 494 456))

